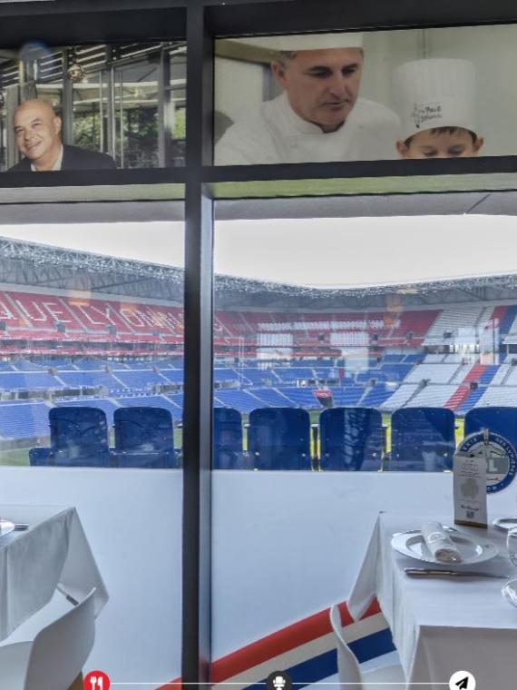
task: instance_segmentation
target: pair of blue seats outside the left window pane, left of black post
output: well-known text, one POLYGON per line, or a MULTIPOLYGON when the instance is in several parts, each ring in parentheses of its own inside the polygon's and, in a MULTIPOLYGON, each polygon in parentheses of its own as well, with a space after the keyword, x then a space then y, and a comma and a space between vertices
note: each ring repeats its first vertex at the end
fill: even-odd
POLYGON ((172 416, 168 409, 115 409, 115 448, 109 447, 102 409, 59 407, 49 411, 50 448, 29 451, 31 465, 60 467, 176 468, 172 416))

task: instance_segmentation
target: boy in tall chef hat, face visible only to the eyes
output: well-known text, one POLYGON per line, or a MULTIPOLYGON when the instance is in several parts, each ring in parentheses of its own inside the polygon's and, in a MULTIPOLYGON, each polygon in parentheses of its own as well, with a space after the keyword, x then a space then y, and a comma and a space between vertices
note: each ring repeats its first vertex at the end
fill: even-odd
POLYGON ((467 158, 483 146, 475 123, 475 74, 467 60, 430 58, 397 67, 402 158, 467 158))

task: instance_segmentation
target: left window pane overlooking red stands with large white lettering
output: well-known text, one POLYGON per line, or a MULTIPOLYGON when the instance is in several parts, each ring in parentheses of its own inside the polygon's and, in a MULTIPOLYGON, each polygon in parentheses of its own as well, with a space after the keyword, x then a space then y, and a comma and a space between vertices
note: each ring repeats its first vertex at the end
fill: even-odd
MULTIPOLYGON (((183 223, 0 233, 6 502, 77 508, 110 595, 90 667, 112 683, 171 681, 181 639, 183 223)), ((8 641, 34 637, 66 606, 56 594, 8 641)))

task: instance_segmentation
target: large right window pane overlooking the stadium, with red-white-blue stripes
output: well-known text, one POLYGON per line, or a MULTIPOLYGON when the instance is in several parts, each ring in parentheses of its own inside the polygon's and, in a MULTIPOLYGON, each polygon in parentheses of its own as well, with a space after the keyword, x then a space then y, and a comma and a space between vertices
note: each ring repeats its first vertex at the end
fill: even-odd
MULTIPOLYGON (((217 222, 219 683, 333 682, 328 606, 346 611, 378 511, 451 519, 463 426, 515 438, 516 249, 502 216, 217 222)), ((373 611, 345 624, 360 661, 393 650, 373 611)))

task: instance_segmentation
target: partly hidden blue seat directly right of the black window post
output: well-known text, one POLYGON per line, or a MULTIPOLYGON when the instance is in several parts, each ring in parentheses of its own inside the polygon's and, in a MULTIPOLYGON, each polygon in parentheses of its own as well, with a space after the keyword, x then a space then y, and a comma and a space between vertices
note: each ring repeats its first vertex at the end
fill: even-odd
POLYGON ((213 468, 251 468, 242 449, 242 417, 238 409, 214 408, 213 468))

